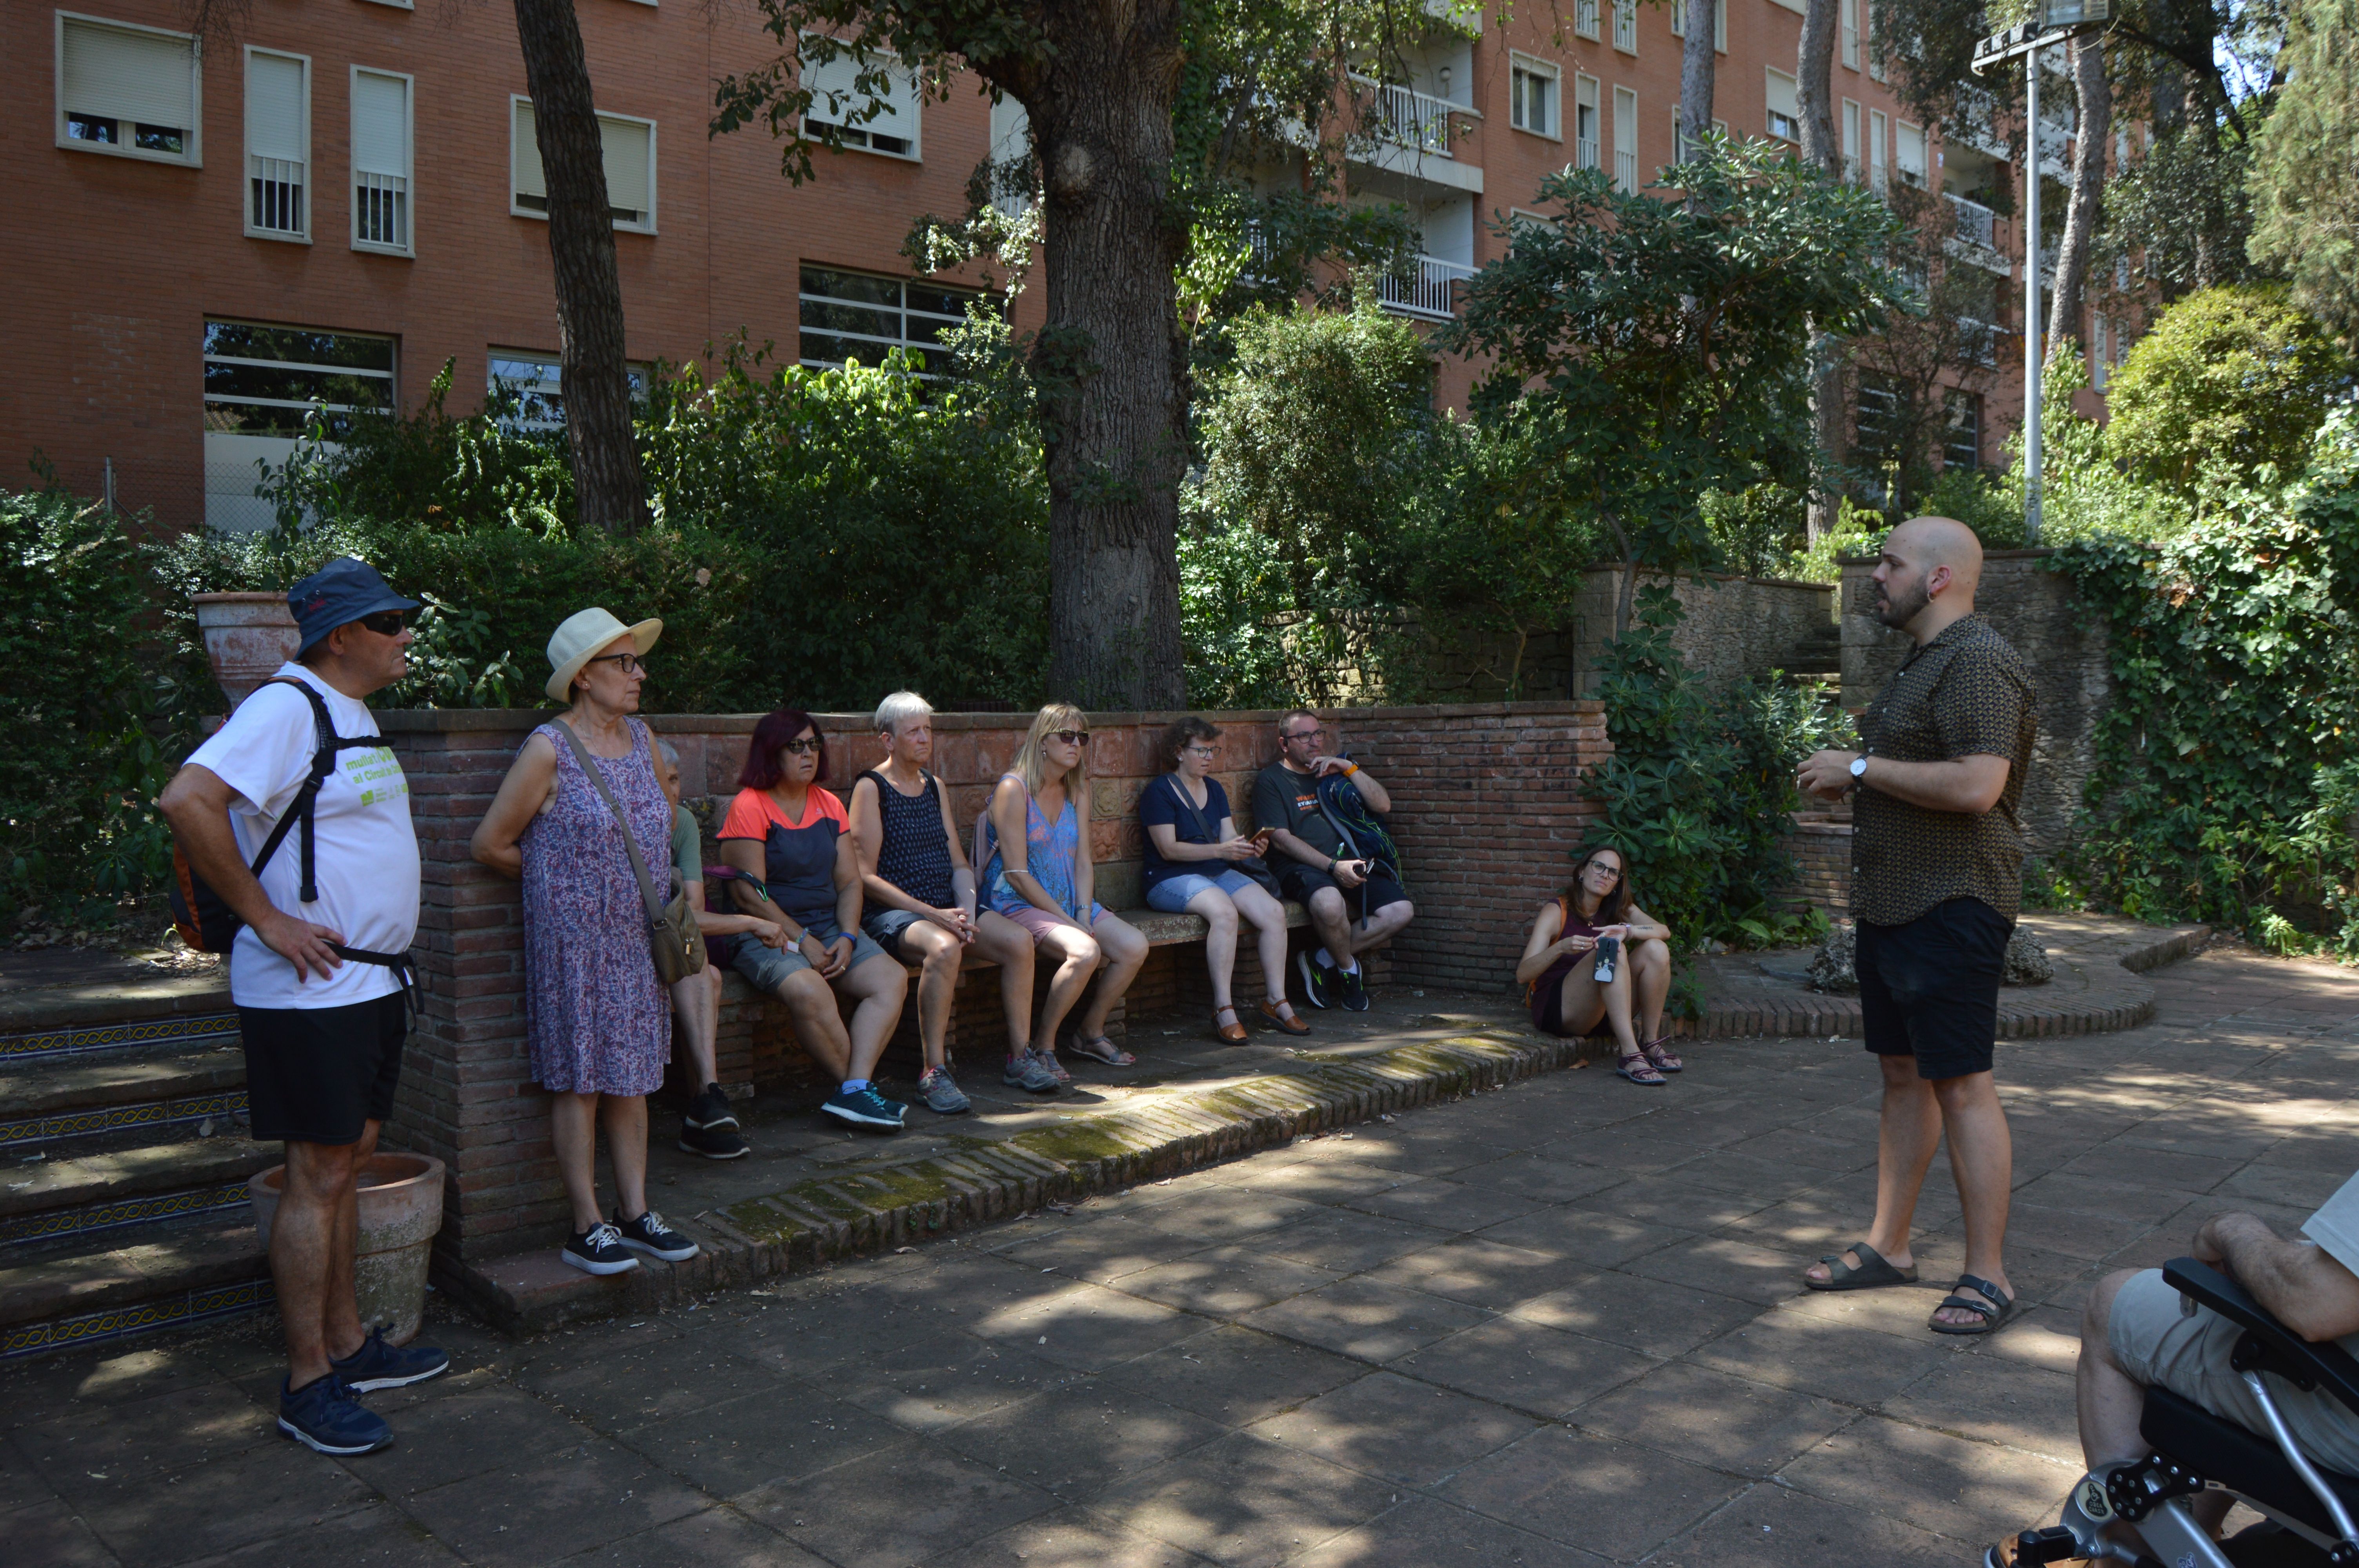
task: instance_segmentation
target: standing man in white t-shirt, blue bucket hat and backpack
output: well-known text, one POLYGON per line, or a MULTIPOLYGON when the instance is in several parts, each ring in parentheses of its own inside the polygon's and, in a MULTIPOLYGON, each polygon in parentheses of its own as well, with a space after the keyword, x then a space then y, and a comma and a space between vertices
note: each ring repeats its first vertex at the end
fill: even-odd
POLYGON ((410 792, 361 698, 408 672, 406 620, 418 604, 342 556, 288 589, 288 608, 302 644, 271 677, 283 684, 248 696, 158 806, 191 870, 245 922, 229 950, 245 1094, 255 1137, 285 1144, 285 1195, 269 1238, 288 1337, 278 1429, 318 1452, 354 1455, 392 1441, 356 1394, 451 1365, 429 1346, 385 1344, 382 1327, 363 1335, 351 1292, 356 1174, 401 1082, 406 957, 418 929, 410 792), (314 696, 344 745, 309 832, 293 828, 257 877, 252 861, 297 809, 321 750, 314 696))

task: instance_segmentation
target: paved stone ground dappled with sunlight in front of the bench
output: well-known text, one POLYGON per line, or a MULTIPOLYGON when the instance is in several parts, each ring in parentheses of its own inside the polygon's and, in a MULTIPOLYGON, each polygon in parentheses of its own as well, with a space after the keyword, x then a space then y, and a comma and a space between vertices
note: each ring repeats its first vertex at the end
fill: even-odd
POLYGON ((2213 950, 2151 1026, 2000 1045, 1989 1342, 1925 1285, 1807 1294, 1873 1200, 1857 1042, 1566 1070, 370 1396, 276 1436, 269 1318, 0 1372, 9 1563, 1960 1566, 2078 1476, 2076 1309, 2359 1165, 2359 974, 2213 950))

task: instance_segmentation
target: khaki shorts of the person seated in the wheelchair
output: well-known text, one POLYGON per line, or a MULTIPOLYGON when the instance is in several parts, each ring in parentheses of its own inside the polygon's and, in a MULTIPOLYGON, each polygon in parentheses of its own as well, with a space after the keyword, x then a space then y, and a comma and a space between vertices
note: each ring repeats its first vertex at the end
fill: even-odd
MULTIPOLYGON (((2161 1384, 2180 1398, 2192 1398, 2213 1415, 2236 1422, 2267 1448, 2276 1448, 2269 1417, 2243 1386, 2243 1372, 2229 1368, 2243 1330, 2201 1306, 2194 1316, 2182 1313, 2180 1292, 2163 1283, 2161 1269, 2142 1269, 2121 1285, 2104 1337, 2114 1346, 2114 1361, 2140 1384, 2161 1384)), ((2262 1377, 2269 1379, 2269 1401, 2286 1417, 2302 1452, 2326 1469, 2359 1476, 2359 1415, 2328 1394, 2302 1394, 2284 1377, 2267 1372, 2262 1377)))

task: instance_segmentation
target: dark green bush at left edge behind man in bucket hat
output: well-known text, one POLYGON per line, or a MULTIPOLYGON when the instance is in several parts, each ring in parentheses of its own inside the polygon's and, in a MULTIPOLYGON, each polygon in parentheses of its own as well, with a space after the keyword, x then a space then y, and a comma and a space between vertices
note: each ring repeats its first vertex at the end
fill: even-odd
POLYGON ((172 686, 139 526, 61 490, 0 493, 0 908, 137 894, 170 868, 149 802, 167 776, 172 686))

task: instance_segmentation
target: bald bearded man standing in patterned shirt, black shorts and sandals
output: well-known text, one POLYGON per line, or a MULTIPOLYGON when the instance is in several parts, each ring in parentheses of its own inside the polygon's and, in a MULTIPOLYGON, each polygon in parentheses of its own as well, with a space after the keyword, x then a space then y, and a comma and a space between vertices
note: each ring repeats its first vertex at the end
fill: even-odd
POLYGON ((2036 729, 2031 667, 1974 613, 1982 540, 1946 516, 1885 538, 1875 615, 1916 648, 1859 722, 1864 752, 1816 752, 1795 783, 1819 799, 1857 790, 1852 917, 1859 1012, 1882 1063, 1875 1224, 1819 1259, 1812 1290, 1916 1280, 1908 1231, 1932 1153, 1965 1210, 1965 1273, 1932 1313, 1937 1335, 1989 1335, 2015 1316, 2000 1252, 2015 1153, 1991 1082, 1998 981, 2022 908, 2017 804, 2036 729))

